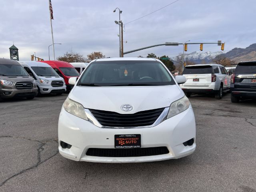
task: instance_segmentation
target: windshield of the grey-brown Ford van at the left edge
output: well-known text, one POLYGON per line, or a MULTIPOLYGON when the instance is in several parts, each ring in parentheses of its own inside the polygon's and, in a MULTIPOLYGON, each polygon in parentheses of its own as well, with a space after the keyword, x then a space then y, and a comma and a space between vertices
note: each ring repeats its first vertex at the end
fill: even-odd
POLYGON ((0 76, 29 76, 20 65, 0 64, 0 76))

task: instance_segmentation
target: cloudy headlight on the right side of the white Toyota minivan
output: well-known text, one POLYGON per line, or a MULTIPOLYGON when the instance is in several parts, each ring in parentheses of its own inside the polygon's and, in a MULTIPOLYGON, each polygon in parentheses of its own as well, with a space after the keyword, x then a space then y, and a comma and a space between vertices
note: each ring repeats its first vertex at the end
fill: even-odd
POLYGON ((167 119, 183 112, 184 110, 188 109, 189 106, 190 106, 190 102, 186 96, 182 97, 181 99, 179 99, 177 101, 174 101, 170 105, 167 119))

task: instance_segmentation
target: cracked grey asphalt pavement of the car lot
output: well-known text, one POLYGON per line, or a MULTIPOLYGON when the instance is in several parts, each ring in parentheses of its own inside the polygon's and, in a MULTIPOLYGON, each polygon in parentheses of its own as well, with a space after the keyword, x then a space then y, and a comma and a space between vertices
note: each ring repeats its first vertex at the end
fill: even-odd
POLYGON ((256 101, 230 94, 190 98, 196 151, 160 162, 75 162, 58 153, 58 116, 67 97, 0 103, 0 191, 256 192, 256 101))

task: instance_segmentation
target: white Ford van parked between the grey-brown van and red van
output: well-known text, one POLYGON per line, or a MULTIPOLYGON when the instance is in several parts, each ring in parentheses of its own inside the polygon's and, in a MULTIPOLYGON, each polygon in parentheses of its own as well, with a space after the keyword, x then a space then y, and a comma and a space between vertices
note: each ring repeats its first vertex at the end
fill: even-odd
POLYGON ((43 62, 18 61, 22 67, 36 80, 38 95, 57 94, 66 92, 66 84, 54 69, 43 62))

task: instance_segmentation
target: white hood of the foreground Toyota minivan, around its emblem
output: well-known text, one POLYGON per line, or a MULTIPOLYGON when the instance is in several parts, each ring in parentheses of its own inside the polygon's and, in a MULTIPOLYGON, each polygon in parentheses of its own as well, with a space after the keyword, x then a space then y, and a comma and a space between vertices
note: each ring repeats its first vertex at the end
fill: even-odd
POLYGON ((184 96, 177 85, 171 86, 131 86, 131 87, 80 87, 76 86, 69 98, 82 104, 84 108, 133 114, 139 111, 169 107, 184 96), (129 112, 121 106, 129 104, 129 112))

